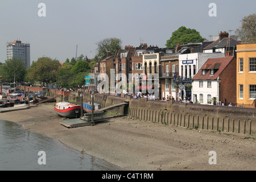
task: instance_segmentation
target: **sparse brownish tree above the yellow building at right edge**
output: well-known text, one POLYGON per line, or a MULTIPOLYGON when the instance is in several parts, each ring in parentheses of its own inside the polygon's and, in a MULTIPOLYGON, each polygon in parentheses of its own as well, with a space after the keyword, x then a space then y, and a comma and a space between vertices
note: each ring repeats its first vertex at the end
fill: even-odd
POLYGON ((242 42, 256 43, 256 14, 245 16, 242 26, 237 28, 236 34, 242 42))

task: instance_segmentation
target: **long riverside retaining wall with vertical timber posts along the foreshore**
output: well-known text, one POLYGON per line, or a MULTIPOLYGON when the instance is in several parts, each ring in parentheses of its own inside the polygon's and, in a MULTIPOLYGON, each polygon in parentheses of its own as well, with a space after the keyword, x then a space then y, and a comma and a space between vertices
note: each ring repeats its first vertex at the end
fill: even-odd
MULTIPOLYGON (((89 93, 83 93, 83 97, 84 100, 91 101, 89 93)), ((81 101, 80 96, 61 96, 56 99, 77 103, 81 101)), ((152 101, 147 98, 133 99, 130 96, 117 97, 108 94, 95 94, 94 102, 100 104, 101 107, 129 102, 129 107, 122 106, 110 111, 131 115, 142 121, 256 135, 256 109, 254 108, 152 101)))

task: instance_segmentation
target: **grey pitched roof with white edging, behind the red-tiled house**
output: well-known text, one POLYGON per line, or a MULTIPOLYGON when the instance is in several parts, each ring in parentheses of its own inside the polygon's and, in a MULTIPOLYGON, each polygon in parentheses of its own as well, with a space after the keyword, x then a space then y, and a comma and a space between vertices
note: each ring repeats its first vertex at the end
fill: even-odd
POLYGON ((212 44, 210 44, 209 46, 205 47, 204 50, 207 49, 213 49, 213 48, 225 48, 225 47, 234 47, 237 44, 242 44, 241 42, 239 42, 238 40, 230 37, 230 38, 223 38, 221 41, 220 39, 217 39, 216 41, 214 41, 212 44), (229 45, 228 45, 229 44, 229 45))

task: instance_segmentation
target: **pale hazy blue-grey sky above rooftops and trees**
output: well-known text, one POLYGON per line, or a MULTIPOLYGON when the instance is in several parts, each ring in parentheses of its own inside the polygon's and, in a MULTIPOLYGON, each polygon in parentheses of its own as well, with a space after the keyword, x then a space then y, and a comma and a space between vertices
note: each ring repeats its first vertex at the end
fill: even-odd
POLYGON ((166 47, 173 31, 180 26, 195 28, 201 36, 218 36, 234 30, 240 20, 256 13, 255 0, 1 0, 0 61, 6 60, 6 43, 30 43, 31 62, 48 56, 64 62, 83 54, 96 54, 96 43, 119 38, 122 47, 141 43, 166 47), (40 17, 39 3, 46 5, 40 17), (216 15, 209 16, 210 3, 216 15))

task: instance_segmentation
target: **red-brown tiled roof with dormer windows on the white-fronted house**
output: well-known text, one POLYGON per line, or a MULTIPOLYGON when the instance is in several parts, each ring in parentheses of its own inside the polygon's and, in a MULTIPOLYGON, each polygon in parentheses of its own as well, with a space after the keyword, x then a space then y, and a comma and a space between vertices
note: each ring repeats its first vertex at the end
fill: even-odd
POLYGON ((226 56, 226 57, 214 57, 209 58, 203 67, 199 69, 196 75, 192 78, 192 80, 217 80, 218 76, 224 71, 226 66, 230 63, 230 61, 236 61, 235 56, 226 56), (205 69, 208 72, 205 72, 205 75, 202 75, 202 70, 205 69), (210 75, 210 69, 214 69, 214 74, 210 75))

